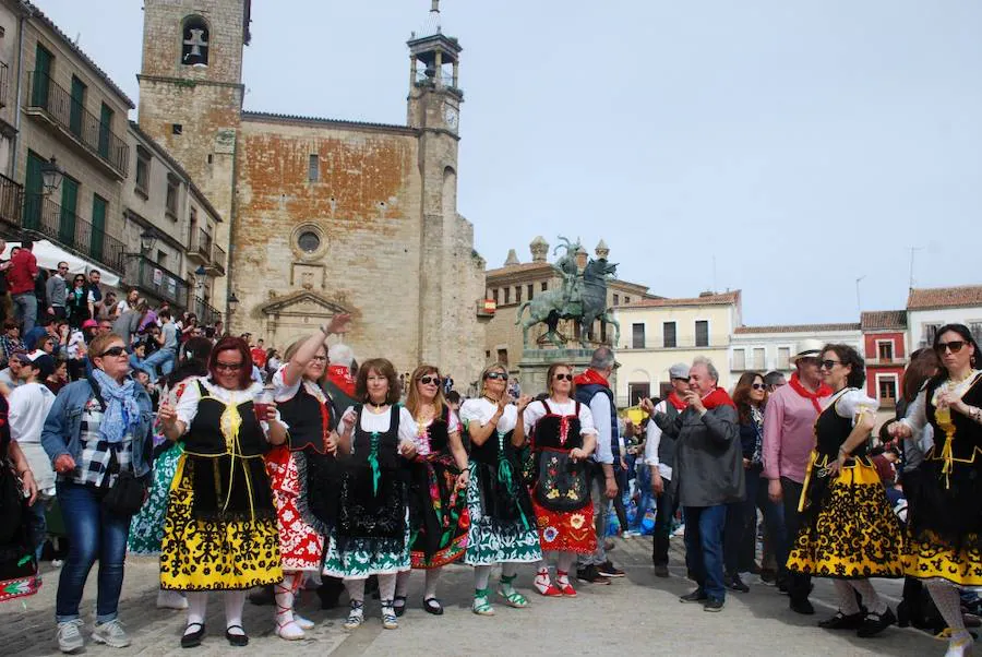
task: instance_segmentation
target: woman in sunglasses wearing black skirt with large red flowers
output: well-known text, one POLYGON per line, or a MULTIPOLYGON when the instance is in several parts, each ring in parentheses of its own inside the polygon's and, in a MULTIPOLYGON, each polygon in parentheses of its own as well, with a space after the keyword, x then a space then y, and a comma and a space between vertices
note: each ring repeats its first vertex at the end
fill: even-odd
MULTIPOLYGON (((406 408, 412 414, 419 455, 410 468, 410 561, 427 572, 423 609, 440 616, 436 582, 443 566, 464 557, 470 514, 467 511, 467 451, 460 440, 460 422, 443 398, 440 370, 421 365, 407 383, 406 408)), ((411 571, 399 573, 396 583, 396 616, 406 610, 406 590, 411 571)))

